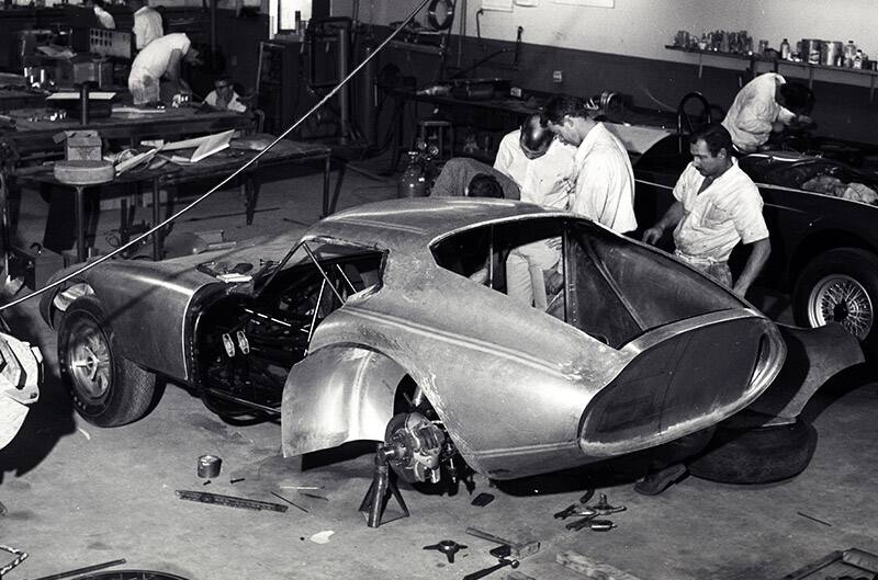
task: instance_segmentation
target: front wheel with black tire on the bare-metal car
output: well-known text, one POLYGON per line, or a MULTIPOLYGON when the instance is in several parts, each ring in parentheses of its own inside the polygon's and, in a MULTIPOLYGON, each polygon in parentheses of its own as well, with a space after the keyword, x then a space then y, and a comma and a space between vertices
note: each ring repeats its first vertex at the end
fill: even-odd
POLYGON ((77 412, 98 427, 143 418, 156 394, 156 376, 114 352, 115 344, 100 302, 74 300, 58 329, 58 366, 77 412))

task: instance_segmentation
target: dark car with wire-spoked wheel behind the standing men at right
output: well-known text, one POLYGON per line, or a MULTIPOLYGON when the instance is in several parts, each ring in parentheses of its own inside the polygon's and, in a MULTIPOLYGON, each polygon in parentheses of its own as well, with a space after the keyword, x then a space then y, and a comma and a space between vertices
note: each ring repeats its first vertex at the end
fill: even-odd
MULTIPOLYGON (((641 226, 671 205, 690 160, 676 135, 634 156, 641 226)), ((752 153, 739 162, 759 187, 772 234, 772 254, 757 284, 789 294, 798 325, 838 322, 878 355, 878 206, 869 193, 878 192, 878 173, 788 151, 752 153)), ((733 272, 745 251, 739 247, 732 254, 733 272)))

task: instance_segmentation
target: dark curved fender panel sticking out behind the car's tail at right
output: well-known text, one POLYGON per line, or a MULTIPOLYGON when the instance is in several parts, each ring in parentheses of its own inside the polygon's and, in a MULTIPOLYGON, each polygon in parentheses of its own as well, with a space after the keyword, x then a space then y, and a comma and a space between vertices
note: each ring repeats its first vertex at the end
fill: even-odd
POLYGON ((773 416, 768 424, 795 422, 826 380, 865 361, 859 341, 841 325, 777 328, 787 343, 787 360, 774 383, 747 408, 773 416))

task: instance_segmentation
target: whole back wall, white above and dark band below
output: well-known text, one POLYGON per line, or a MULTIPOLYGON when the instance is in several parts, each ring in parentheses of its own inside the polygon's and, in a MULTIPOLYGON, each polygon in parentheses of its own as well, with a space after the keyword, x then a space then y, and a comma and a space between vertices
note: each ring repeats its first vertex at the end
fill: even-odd
MULTIPOLYGON (((624 94, 631 105, 646 107, 658 111, 675 111, 680 98, 689 91, 702 92, 712 103, 718 104, 723 110, 728 109, 734 99, 735 93, 751 78, 747 70, 748 62, 745 60, 706 56, 703 59, 703 70, 699 78, 697 57, 664 48, 664 45, 672 42, 674 33, 679 29, 688 29, 695 32, 700 31, 698 22, 707 22, 706 15, 699 15, 708 11, 710 20, 716 19, 716 23, 710 22, 703 27, 716 30, 724 27, 727 30, 740 30, 751 22, 764 19, 759 22, 761 29, 750 26, 751 34, 756 39, 761 38, 759 30, 780 31, 789 27, 790 31, 807 30, 810 23, 826 27, 830 23, 835 23, 837 14, 843 13, 852 22, 857 21, 860 32, 841 33, 840 38, 854 39, 862 42, 866 38, 866 32, 873 38, 875 32, 866 31, 865 26, 873 22, 871 14, 874 9, 867 10, 868 1, 844 2, 844 9, 840 10, 838 2, 821 1, 809 4, 809 15, 797 14, 796 18, 783 18, 783 10, 792 12, 791 2, 776 2, 778 7, 767 2, 719 2, 707 0, 695 2, 689 0, 656 1, 645 0, 624 0, 617 1, 615 9, 597 9, 588 7, 569 7, 555 4, 551 0, 540 0, 540 5, 536 8, 522 8, 516 5, 513 13, 486 12, 482 19, 483 42, 474 38, 476 34, 474 25, 474 12, 479 8, 479 2, 470 2, 468 8, 466 38, 463 43, 462 57, 460 64, 466 68, 493 52, 507 48, 508 52, 499 55, 471 71, 470 77, 503 77, 509 78, 525 89, 563 92, 582 96, 592 96, 600 92, 615 91, 624 94), (653 5, 649 10, 646 4, 653 5), (729 4, 729 5, 727 5, 729 4), (752 7, 764 5, 758 14, 753 15, 752 7), (831 4, 834 4, 833 9, 831 4), (655 7, 658 8, 655 8, 655 7), (722 9, 720 9, 722 5, 722 9), (811 8, 813 5, 813 8, 811 8), (714 10, 716 8, 716 10, 714 10), (567 14, 567 10, 573 9, 574 13, 587 15, 578 19, 567 14), (565 18, 555 15, 554 12, 567 14, 565 18), (716 16, 712 14, 717 14, 716 16), (867 13, 869 16, 867 18, 867 13), (539 14, 540 18, 534 18, 539 14), (544 16, 544 19, 542 18, 544 16), (488 26, 489 20, 498 22, 505 19, 509 32, 499 34, 498 25, 488 26), (590 20, 588 20, 590 19, 590 20), (599 19, 599 20, 598 20, 599 19), (735 20, 740 19, 740 20, 735 20), (745 20, 754 19, 754 20, 745 20), (774 20, 774 22, 772 22, 774 20), (584 33, 575 36, 567 35, 563 41, 554 41, 547 36, 543 38, 545 44, 534 42, 533 37, 541 30, 547 30, 548 23, 558 25, 563 31, 567 25, 564 21, 575 21, 584 33), (590 24, 584 24, 589 21, 590 24), (511 67, 513 54, 515 48, 515 27, 518 23, 525 26, 524 44, 520 50, 520 61, 517 67, 511 67), (595 31, 594 33, 592 31, 595 31), (616 34, 618 42, 600 43, 595 42, 601 34, 616 34), (499 39, 491 38, 494 34, 499 39), (849 36, 849 38, 847 36, 849 36), (631 39, 634 38, 635 42, 631 39), (575 43, 574 43, 575 41, 575 43), (573 46, 575 45, 575 46, 573 46), (621 50, 619 46, 628 46, 630 50, 621 50), (608 49, 607 47, 610 47, 608 49), (634 53, 634 54, 632 54, 634 53), (660 62, 657 62, 660 60, 660 62), (553 82, 552 73, 554 70, 563 72, 562 82, 553 82)), ((394 2, 394 10, 387 9, 384 2, 371 2, 360 4, 361 19, 369 20, 374 18, 376 22, 399 20, 406 13, 394 2)), ((416 3, 405 0, 405 5, 414 7, 416 3)), ((801 7, 799 8, 801 10, 801 7)), ((424 21, 426 16, 420 15, 424 21)), ((835 24, 833 24, 835 25, 835 24)), ((459 23, 454 24, 453 31, 459 30, 459 23)), ((505 30, 505 29, 504 29, 505 30)), ((833 29, 836 30, 836 29, 833 29)), ((559 33, 561 34, 561 33, 559 33)), ((777 46, 783 39, 774 38, 778 33, 765 33, 770 43, 777 46)), ((786 34, 786 33, 783 33, 786 34)), ((795 43, 804 36, 820 36, 817 33, 810 35, 802 32, 790 32, 788 38, 795 43), (801 36, 800 36, 801 34, 801 36)), ((558 37, 555 34, 554 37, 558 37)), ((870 53, 878 57, 878 43, 870 53)), ((449 65, 458 64, 457 48, 458 41, 453 37, 450 46, 452 56, 449 65)), ((868 44, 865 46, 869 52, 868 44)), ((435 80, 438 58, 429 55, 419 55, 404 50, 390 50, 383 57, 382 62, 393 61, 397 65, 403 75, 413 76, 418 79, 418 84, 424 84, 435 80)), ((769 70, 769 65, 762 64, 759 72, 769 70)), ((783 67, 781 73, 788 78, 802 78, 804 70, 801 68, 783 67)), ((870 100, 869 77, 866 75, 852 75, 834 71, 818 71, 814 78, 814 91, 818 104, 814 109, 814 117, 819 124, 819 133, 828 137, 836 137, 864 143, 875 141, 874 130, 868 123, 862 123, 863 118, 869 118, 875 114, 878 106, 878 96, 875 102, 870 100)))

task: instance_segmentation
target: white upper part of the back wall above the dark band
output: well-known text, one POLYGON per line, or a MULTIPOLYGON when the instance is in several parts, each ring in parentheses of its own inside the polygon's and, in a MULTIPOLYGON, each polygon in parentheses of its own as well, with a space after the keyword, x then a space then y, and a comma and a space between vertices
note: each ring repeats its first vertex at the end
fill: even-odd
MULTIPOLYGON (((784 37, 793 46, 802 38, 853 39, 878 57, 874 0, 616 0, 611 9, 571 4, 576 1, 587 0, 536 0, 537 5, 514 5, 511 12, 485 10, 479 27, 484 38, 515 41, 517 27, 524 26, 522 39, 531 44, 680 62, 690 57, 664 48, 678 30, 698 34, 746 30, 775 48, 784 37)), ((475 36, 481 2, 459 2, 463 3, 465 34, 475 36)), ((417 4, 417 0, 361 2, 360 20, 389 24, 417 4)), ((460 8, 457 19, 455 33, 460 8)), ((425 22, 426 13, 418 20, 425 22)))

